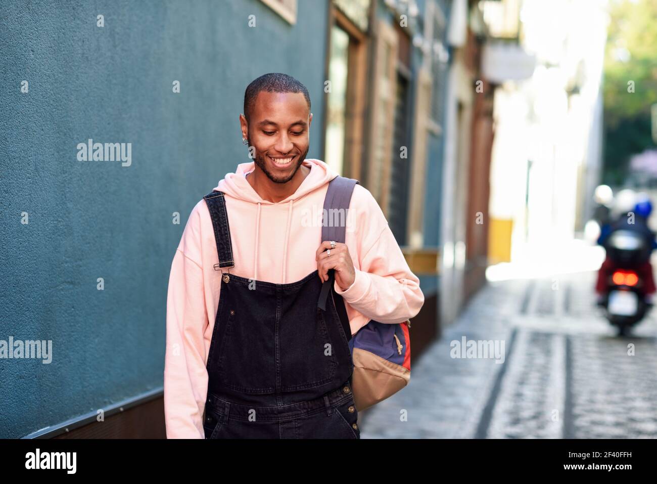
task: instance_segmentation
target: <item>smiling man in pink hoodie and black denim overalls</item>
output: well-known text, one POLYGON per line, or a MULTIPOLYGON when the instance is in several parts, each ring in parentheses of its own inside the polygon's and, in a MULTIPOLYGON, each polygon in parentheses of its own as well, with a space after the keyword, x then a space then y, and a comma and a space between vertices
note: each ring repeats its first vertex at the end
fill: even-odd
POLYGON ((240 126, 254 162, 194 206, 171 264, 169 438, 359 438, 350 349, 330 298, 317 308, 322 283, 334 270, 352 335, 369 320, 413 318, 424 303, 361 185, 345 243, 321 240, 321 220, 311 221, 338 174, 306 159, 312 118, 306 87, 290 76, 246 88, 240 126))

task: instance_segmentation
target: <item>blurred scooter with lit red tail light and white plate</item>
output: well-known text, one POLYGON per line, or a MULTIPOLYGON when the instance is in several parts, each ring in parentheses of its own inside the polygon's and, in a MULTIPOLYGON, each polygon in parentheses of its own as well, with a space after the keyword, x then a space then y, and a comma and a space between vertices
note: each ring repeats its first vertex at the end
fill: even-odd
POLYGON ((602 307, 610 324, 618 327, 618 335, 624 336, 652 308, 645 301, 645 281, 636 270, 650 258, 652 248, 641 234, 618 230, 609 236, 605 249, 616 269, 608 276, 602 307))

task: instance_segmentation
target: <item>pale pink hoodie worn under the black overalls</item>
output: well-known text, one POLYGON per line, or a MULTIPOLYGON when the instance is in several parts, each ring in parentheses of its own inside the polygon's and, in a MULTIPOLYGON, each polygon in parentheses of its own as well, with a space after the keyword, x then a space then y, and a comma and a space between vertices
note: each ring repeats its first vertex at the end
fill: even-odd
MULTIPOLYGON (((328 182, 338 176, 329 166, 306 159, 310 173, 288 198, 273 203, 260 198, 246 180, 254 162, 238 164, 215 188, 225 204, 235 267, 230 273, 272 283, 291 283, 317 269, 320 223, 309 220, 324 206, 328 182)), ((355 281, 341 294, 351 333, 369 320, 400 323, 413 318, 424 304, 419 279, 411 272, 388 228, 378 203, 355 185, 347 217, 346 244, 355 281)), ((173 256, 166 314, 164 414, 168 438, 204 439, 203 412, 208 392, 206 370, 212 329, 219 303, 221 273, 214 229, 206 202, 194 206, 173 256)), ((246 342, 245 342, 246 343, 246 342)))

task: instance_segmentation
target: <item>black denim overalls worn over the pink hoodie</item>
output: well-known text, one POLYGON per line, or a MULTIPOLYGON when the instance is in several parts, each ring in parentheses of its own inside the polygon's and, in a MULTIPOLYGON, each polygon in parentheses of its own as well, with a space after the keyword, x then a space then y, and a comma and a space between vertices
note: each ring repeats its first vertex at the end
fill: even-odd
MULTIPOLYGON (((235 265, 225 200, 221 191, 204 199, 219 271, 235 265)), ((317 307, 322 287, 317 270, 288 284, 227 270, 217 277, 221 293, 206 366, 206 439, 359 439, 350 346, 332 298, 326 311, 317 307)))

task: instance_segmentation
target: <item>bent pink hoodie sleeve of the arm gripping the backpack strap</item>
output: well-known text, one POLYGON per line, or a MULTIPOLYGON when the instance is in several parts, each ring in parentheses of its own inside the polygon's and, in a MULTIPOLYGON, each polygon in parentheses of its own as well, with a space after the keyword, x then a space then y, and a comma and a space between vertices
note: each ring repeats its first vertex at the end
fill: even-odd
POLYGON ((396 324, 415 317, 424 304, 420 279, 411 272, 376 199, 365 187, 355 185, 352 207, 357 220, 355 233, 348 231, 347 243, 355 279, 344 291, 335 282, 336 293, 374 321, 396 324))

